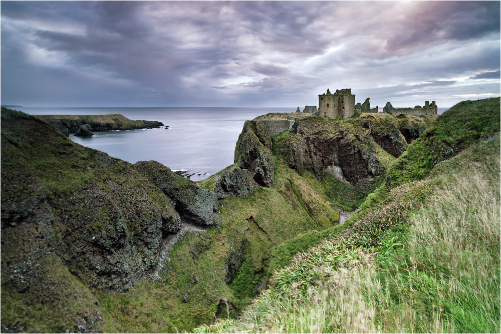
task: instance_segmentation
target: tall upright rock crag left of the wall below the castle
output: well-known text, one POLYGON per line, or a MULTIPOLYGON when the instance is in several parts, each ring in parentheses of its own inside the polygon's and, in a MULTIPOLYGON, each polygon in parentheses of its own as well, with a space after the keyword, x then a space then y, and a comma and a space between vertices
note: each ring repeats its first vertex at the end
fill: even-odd
POLYGON ((261 121, 245 121, 235 147, 235 164, 247 169, 262 187, 274 181, 272 140, 261 121))

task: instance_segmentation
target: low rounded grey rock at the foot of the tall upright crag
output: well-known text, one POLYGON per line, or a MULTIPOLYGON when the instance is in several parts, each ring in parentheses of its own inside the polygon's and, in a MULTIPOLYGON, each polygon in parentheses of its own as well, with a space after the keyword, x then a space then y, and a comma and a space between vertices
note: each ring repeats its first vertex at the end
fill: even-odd
POLYGON ((238 167, 224 172, 217 180, 214 191, 218 199, 229 195, 247 197, 254 190, 254 179, 247 169, 238 167))

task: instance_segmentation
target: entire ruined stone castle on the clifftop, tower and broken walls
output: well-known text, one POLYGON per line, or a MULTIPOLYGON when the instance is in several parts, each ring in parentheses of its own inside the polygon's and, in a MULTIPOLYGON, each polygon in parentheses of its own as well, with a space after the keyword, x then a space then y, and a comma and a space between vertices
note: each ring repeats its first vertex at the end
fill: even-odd
MULTIPOLYGON (((424 106, 415 106, 414 108, 393 108, 391 103, 387 102, 383 112, 391 116, 423 116, 436 115, 437 109, 435 101, 432 101, 431 104, 429 101, 425 101, 424 106)), ((296 112, 301 112, 299 107, 296 112)), ((363 104, 359 102, 355 105, 355 95, 351 94, 351 88, 337 89, 334 94, 327 89, 327 93, 318 96, 318 111, 316 106, 305 106, 303 110, 303 113, 310 113, 313 116, 324 118, 348 118, 353 116, 355 112, 377 113, 378 106, 371 109, 369 98, 365 99, 363 104)))

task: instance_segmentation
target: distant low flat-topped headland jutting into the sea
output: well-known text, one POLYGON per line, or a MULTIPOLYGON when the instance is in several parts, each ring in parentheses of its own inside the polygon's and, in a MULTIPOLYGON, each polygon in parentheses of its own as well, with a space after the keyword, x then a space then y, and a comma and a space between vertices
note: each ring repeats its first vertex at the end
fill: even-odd
POLYGON ((91 131, 132 130, 163 126, 158 121, 134 121, 120 114, 109 115, 36 115, 58 129, 66 137, 68 132, 77 132, 78 129, 88 124, 91 131))

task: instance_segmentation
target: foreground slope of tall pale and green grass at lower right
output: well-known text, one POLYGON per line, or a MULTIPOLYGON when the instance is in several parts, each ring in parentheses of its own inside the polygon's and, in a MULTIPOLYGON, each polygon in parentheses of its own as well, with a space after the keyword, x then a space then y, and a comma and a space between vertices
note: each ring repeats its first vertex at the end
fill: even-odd
POLYGON ((195 331, 499 332, 499 134, 471 143, 423 180, 381 185, 346 223, 276 247, 271 289, 195 331))

